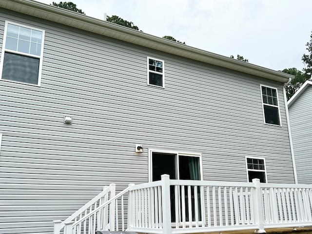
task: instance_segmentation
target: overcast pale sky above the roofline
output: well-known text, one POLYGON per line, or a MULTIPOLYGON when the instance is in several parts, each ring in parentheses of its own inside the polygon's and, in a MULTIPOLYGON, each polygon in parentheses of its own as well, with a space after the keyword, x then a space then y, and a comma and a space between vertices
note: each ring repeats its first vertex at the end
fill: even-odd
MULTIPOLYGON (((49 4, 53 0, 38 1, 49 4)), ((228 57, 239 54, 273 70, 301 70, 312 31, 312 0, 68 1, 88 16, 117 15, 145 33, 170 35, 228 57)))

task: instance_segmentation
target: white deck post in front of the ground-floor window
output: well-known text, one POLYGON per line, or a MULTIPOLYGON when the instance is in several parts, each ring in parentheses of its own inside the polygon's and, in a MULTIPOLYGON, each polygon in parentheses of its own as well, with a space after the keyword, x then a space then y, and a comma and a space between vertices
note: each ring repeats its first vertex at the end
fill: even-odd
POLYGON ((253 179, 254 190, 253 190, 253 205, 254 205, 254 222, 258 224, 259 229, 256 233, 266 233, 264 230, 264 217, 263 217, 263 206, 262 206, 262 192, 260 187, 260 179, 253 179))

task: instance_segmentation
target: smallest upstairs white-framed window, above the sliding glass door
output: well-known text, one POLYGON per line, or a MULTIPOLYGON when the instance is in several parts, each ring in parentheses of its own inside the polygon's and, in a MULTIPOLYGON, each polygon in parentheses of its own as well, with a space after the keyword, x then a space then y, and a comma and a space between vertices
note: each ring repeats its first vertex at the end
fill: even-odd
POLYGON ((165 62, 161 59, 147 57, 147 84, 165 87, 165 62))

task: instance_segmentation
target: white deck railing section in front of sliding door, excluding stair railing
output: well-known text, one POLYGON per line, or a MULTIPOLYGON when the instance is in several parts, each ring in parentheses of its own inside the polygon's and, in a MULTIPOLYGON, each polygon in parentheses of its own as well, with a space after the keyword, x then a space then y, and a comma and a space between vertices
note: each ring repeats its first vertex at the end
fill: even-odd
POLYGON ((312 186, 170 180, 135 185, 129 194, 128 230, 204 233, 312 226, 312 186))

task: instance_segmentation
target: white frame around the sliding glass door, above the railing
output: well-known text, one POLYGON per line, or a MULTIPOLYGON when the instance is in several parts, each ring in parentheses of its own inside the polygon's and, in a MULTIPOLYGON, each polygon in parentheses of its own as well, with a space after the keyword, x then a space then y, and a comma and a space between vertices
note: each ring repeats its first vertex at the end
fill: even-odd
POLYGON ((175 154, 177 157, 176 160, 176 179, 179 179, 179 169, 178 169, 178 158, 179 156, 193 156, 199 157, 199 170, 200 170, 200 180, 203 180, 203 165, 202 165, 202 156, 199 153, 191 153, 191 152, 182 152, 182 151, 171 151, 171 150, 163 150, 163 149, 149 149, 148 150, 148 181, 153 182, 153 167, 152 167, 152 153, 165 153, 165 154, 175 154))

